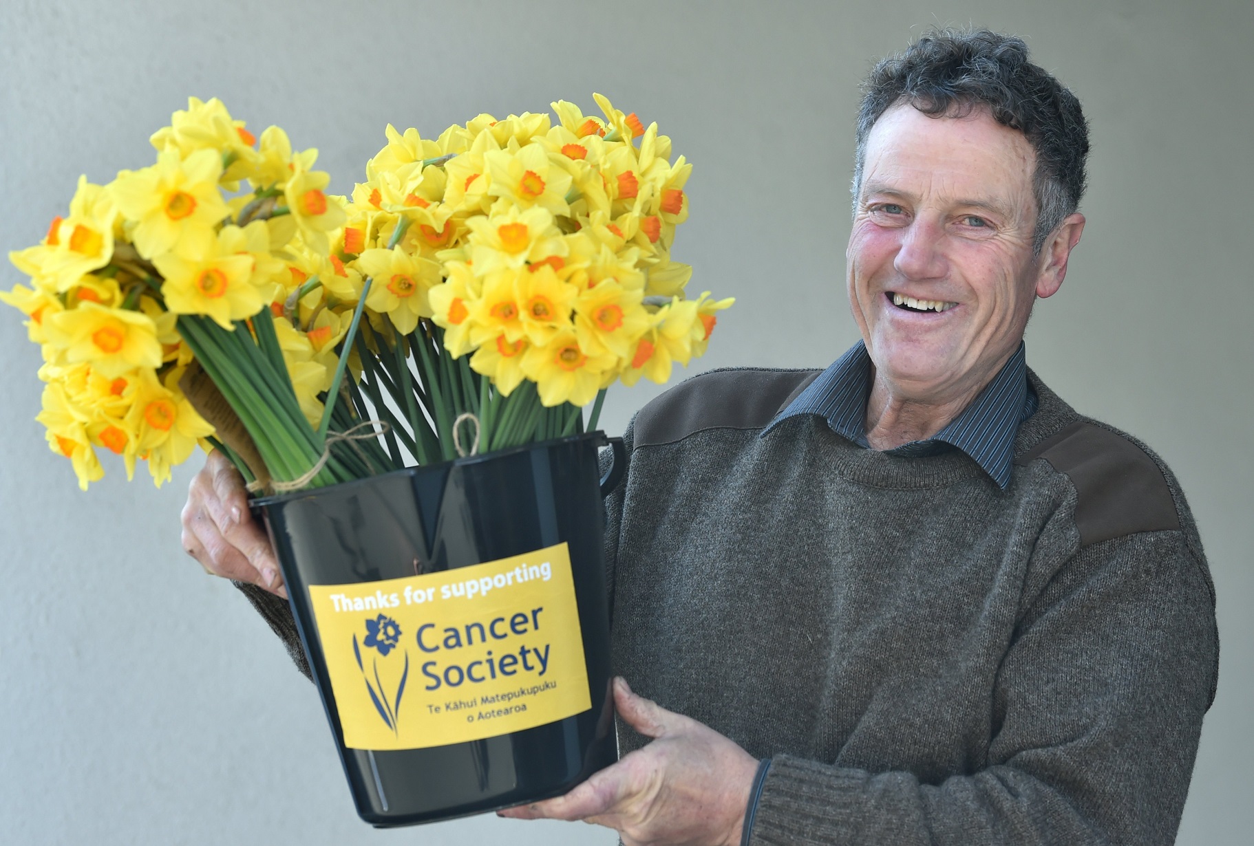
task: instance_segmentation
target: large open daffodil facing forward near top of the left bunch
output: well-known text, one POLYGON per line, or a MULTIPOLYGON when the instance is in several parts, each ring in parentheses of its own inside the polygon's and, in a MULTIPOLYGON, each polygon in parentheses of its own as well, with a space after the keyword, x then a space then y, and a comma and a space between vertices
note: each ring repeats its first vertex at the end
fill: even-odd
POLYGON ((114 202, 128 221, 130 238, 148 259, 168 252, 201 258, 213 247, 214 229, 229 213, 218 189, 222 157, 202 149, 179 159, 166 150, 157 164, 120 173, 109 185, 114 202))

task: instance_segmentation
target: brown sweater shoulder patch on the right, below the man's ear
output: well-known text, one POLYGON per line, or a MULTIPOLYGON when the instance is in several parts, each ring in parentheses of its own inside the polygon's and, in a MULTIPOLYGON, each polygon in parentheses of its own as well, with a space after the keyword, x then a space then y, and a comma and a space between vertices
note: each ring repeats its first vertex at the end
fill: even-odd
POLYGON ((1076 486, 1080 545, 1180 528, 1171 489, 1145 450, 1091 422, 1075 422, 1014 460, 1045 459, 1076 486))

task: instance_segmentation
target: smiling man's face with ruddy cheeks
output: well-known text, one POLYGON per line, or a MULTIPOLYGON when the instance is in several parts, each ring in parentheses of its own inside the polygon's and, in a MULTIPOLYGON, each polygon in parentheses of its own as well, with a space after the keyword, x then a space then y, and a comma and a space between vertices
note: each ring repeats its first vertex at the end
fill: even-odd
POLYGON ((902 399, 987 382, 1036 296, 1057 288, 1032 257, 1035 164, 1023 134, 983 109, 929 118, 903 104, 872 129, 845 252, 849 305, 877 377, 902 399))

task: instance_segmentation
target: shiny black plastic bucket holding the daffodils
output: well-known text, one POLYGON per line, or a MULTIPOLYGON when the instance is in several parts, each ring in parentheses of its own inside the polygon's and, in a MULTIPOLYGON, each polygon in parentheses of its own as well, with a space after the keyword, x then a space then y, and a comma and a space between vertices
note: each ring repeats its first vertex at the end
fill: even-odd
MULTIPOLYGON (((602 432, 589 432, 255 501, 253 510, 265 519, 278 554, 301 643, 322 696, 352 798, 362 820, 375 826, 434 822, 559 796, 617 760, 609 688, 609 624, 602 553, 604 511, 601 499, 618 483, 623 466, 622 441, 607 439, 602 432), (614 460, 611 470, 601 478, 597 447, 606 445, 613 447, 614 460), (346 594, 352 593, 349 589, 352 585, 391 579, 408 579, 394 583, 408 585, 409 582, 416 582, 413 579, 415 575, 448 580, 458 575, 449 572, 459 568, 499 563, 502 559, 535 554, 537 550, 561 550, 563 545, 569 555, 569 580, 573 582, 573 605, 578 609, 587 703, 591 707, 553 722, 479 739, 436 746, 426 744, 431 742, 429 739, 423 741, 425 748, 352 748, 345 744, 345 726, 341 724, 341 708, 336 704, 327 667, 327 648, 330 643, 332 650, 341 650, 332 653, 332 658, 339 662, 334 666, 341 667, 342 650, 347 647, 340 643, 344 639, 340 637, 324 643, 326 632, 320 634, 314 597, 321 597, 329 589, 322 588, 320 593, 317 589, 311 592, 311 587, 339 585, 342 593, 335 594, 337 599, 334 600, 335 609, 339 610, 341 603, 347 608, 350 599, 346 594)), ((566 553, 561 554, 564 556, 566 553)), ((548 572, 547 561, 544 568, 548 572)), ((527 569, 524 561, 514 570, 522 573, 518 577, 519 592, 523 590, 522 579, 527 569)), ((559 565, 554 564, 553 569, 559 569, 559 565)), ((534 565, 530 570, 538 572, 534 565)), ((474 582, 477 579, 468 579, 461 585, 474 590, 475 588, 466 587, 474 582)), ((484 582, 488 583, 484 589, 487 594, 492 589, 490 577, 484 582)), ((500 582, 498 578, 498 585, 500 582)), ((548 589, 548 585, 525 587, 528 590, 548 589)), ((428 595, 434 599, 434 589, 429 592, 428 595)), ((364 589, 357 593, 364 593, 364 589)), ((505 595, 508 590, 499 593, 505 595)), ((385 607, 387 595, 382 590, 377 592, 379 602, 385 607)), ((399 593, 390 595, 395 602, 399 593)), ((406 592, 405 600, 411 598, 419 597, 406 592)), ((360 597, 351 602, 359 603, 360 610, 360 597)), ((370 602, 369 597, 366 602, 370 602)), ((317 608, 324 614, 322 628, 326 629, 326 605, 317 608)), ((416 613, 413 608, 404 610, 416 613)), ((367 612, 366 617, 371 613, 367 612)), ((433 684, 440 688, 456 681, 456 696, 448 701, 448 707, 454 707, 454 702, 469 703, 465 721, 472 723, 474 731, 489 731, 490 726, 473 726, 475 714, 482 719, 490 719, 507 708, 485 707, 480 699, 498 703, 503 699, 497 696, 474 697, 469 692, 472 684, 463 684, 466 674, 480 681, 474 672, 487 678, 488 664, 477 661, 465 667, 458 666, 458 674, 451 674, 453 667, 446 667, 441 681, 439 664, 421 663, 431 657, 424 653, 433 653, 439 645, 438 630, 431 624, 415 625, 413 622, 398 625, 386 617, 393 613, 380 612, 375 623, 366 622, 366 627, 372 628, 360 633, 361 640, 356 634, 352 639, 354 658, 361 669, 361 679, 357 679, 360 683, 352 689, 362 697, 360 692, 369 689, 372 706, 377 709, 377 714, 369 717, 379 721, 374 729, 382 732, 380 726, 386 723, 387 729, 398 731, 403 717, 410 721, 405 726, 413 728, 428 718, 429 713, 434 713, 433 708, 441 709, 439 704, 433 704, 435 699, 424 701, 423 707, 413 706, 414 697, 436 697, 439 693, 426 692, 433 684), (387 623, 391 628, 387 628, 387 623), (426 630, 419 630, 415 637, 415 629, 426 630), (371 645, 377 654, 370 650, 371 645), (390 655, 391 647, 396 652, 390 655), (405 664, 398 687, 380 676, 377 666, 382 661, 395 677, 401 649, 405 650, 405 664), (387 664, 389 661, 393 663, 387 664), (371 662, 372 673, 366 668, 371 662), (426 686, 418 687, 423 682, 426 686), (409 699, 405 699, 406 687, 409 699), (395 696, 389 691, 395 692, 395 696)), ((351 615, 345 619, 347 617, 351 615)), ((400 614, 396 613, 396 617, 400 614)), ((568 617, 574 619, 573 610, 568 617)), ((421 618, 411 615, 406 619, 421 618)), ((508 619, 500 617, 492 620, 492 634, 509 635, 509 625, 515 625, 515 633, 530 630, 530 634, 535 634, 537 627, 542 624, 535 614, 528 618, 525 613, 517 613, 508 619)), ((473 643, 472 625, 466 627, 466 639, 473 643)), ((478 627, 478 632, 480 648, 493 645, 484 637, 483 625, 478 627)), ((554 645, 564 648, 561 643, 554 645)), ((574 647, 578 643, 566 645, 574 647)), ((484 654, 493 653, 489 650, 484 654)), ((498 654, 502 654, 500 650, 498 654)), ((533 674, 544 672, 539 669, 538 648, 528 653, 523 647, 520 654, 522 663, 513 654, 497 658, 499 666, 490 664, 493 679, 498 678, 497 669, 502 673, 513 671, 522 678, 525 676, 522 667, 529 655, 535 658, 535 666, 533 668, 528 664, 528 669, 533 674), (512 662, 508 668, 507 661, 512 662)), ((545 644, 545 661, 548 654, 549 645, 545 644)), ((336 672, 340 673, 337 678, 342 679, 344 671, 336 672)), ((346 684, 342 681, 340 683, 346 684)), ((529 688, 525 686, 527 682, 519 682, 518 696, 522 698, 518 701, 532 702, 532 714, 513 714, 510 719, 535 719, 535 714, 543 711, 535 708, 535 702, 549 693, 534 693, 543 684, 532 684, 529 688)), ((571 687, 567 686, 566 689, 571 687)), ((341 691, 346 689, 349 688, 341 687, 341 691)), ((453 691, 451 687, 444 689, 453 691)), ((344 707, 347 708, 347 699, 344 707)), ((525 709, 527 706, 523 702, 508 707, 525 709)), ((352 719, 365 718, 352 716, 352 719)), ((458 719, 461 719, 460 713, 458 719)), ((355 746, 360 747, 361 743, 355 746)))

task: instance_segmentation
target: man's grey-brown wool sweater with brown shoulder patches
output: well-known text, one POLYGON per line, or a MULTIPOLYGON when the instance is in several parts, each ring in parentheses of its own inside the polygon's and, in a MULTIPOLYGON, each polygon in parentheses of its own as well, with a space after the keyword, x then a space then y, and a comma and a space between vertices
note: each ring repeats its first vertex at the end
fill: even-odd
POLYGON ((754 845, 1170 843, 1218 669, 1174 476, 1031 372, 1006 490, 818 416, 764 434, 818 373, 712 371, 628 426, 614 672, 770 758, 754 845))

